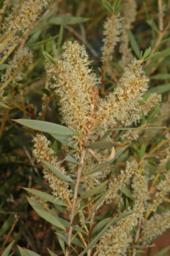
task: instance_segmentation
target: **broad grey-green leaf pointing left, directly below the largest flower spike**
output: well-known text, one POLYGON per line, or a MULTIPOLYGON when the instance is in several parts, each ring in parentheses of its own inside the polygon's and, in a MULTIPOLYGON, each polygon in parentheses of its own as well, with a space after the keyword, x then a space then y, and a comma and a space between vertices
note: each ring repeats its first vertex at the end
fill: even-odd
POLYGON ((25 125, 31 129, 37 131, 44 131, 45 133, 54 133, 58 135, 77 135, 77 131, 72 131, 68 127, 63 125, 57 125, 56 123, 50 123, 46 121, 31 120, 31 119, 12 119, 20 125, 25 125))

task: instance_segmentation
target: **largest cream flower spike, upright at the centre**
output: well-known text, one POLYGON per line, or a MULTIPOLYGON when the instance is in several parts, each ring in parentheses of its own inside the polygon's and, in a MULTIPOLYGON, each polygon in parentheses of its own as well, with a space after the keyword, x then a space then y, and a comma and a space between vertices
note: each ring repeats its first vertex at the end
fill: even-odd
POLYGON ((54 88, 61 98, 60 110, 64 123, 86 135, 96 118, 96 85, 100 81, 88 67, 90 61, 84 46, 78 42, 67 42, 63 48, 64 53, 58 65, 50 70, 54 74, 54 88))

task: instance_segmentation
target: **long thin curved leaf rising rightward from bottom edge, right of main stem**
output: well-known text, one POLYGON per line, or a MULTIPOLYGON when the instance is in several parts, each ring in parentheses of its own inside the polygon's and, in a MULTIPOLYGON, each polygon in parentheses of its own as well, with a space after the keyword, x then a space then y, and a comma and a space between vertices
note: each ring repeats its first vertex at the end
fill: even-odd
POLYGON ((108 229, 108 227, 110 227, 110 225, 113 225, 118 220, 120 220, 126 216, 129 216, 129 215, 133 214, 134 212, 135 212, 135 210, 133 210, 131 212, 122 213, 117 218, 112 218, 110 220, 110 222, 108 222, 108 224, 104 227, 104 229, 102 229, 102 231, 100 231, 100 233, 98 233, 98 235, 96 235, 96 237, 91 241, 91 243, 88 245, 88 247, 86 247, 86 249, 84 251, 82 251, 82 253, 80 253, 80 255, 78 255, 78 256, 84 255, 90 248, 92 248, 97 243, 97 241, 100 239, 100 237, 102 237, 102 235, 108 229))

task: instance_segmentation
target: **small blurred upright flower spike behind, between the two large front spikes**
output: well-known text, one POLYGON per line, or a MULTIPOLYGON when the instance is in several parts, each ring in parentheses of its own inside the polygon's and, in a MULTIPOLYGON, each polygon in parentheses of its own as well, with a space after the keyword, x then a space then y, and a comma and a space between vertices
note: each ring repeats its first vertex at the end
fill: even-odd
POLYGON ((103 31, 105 38, 102 40, 104 45, 101 48, 103 64, 108 62, 108 60, 112 60, 114 47, 118 42, 120 42, 121 29, 120 13, 118 13, 118 15, 113 14, 111 17, 106 19, 103 31))

